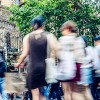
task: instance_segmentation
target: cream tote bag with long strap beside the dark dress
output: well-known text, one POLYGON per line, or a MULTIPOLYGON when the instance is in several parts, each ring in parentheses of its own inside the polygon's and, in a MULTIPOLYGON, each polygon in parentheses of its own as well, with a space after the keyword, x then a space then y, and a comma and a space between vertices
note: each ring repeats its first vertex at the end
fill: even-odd
POLYGON ((47 58, 45 59, 46 62, 46 75, 45 80, 48 84, 50 83, 57 83, 57 65, 55 58, 51 57, 51 48, 49 45, 49 39, 47 38, 47 58))

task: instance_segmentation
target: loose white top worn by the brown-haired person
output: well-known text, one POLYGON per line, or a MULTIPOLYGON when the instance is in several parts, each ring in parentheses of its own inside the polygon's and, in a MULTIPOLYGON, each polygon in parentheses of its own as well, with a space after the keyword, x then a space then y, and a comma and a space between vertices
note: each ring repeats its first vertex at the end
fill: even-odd
POLYGON ((69 34, 62 36, 59 39, 62 52, 70 52, 74 55, 76 62, 83 63, 83 57, 85 56, 84 47, 85 43, 81 37, 76 37, 76 34, 69 34))

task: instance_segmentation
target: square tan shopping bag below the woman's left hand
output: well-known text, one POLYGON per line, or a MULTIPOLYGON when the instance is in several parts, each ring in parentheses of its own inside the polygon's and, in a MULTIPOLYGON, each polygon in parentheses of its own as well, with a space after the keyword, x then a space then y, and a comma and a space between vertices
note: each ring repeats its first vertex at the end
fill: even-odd
POLYGON ((26 91, 26 73, 7 72, 5 73, 5 91, 7 93, 20 93, 26 91))

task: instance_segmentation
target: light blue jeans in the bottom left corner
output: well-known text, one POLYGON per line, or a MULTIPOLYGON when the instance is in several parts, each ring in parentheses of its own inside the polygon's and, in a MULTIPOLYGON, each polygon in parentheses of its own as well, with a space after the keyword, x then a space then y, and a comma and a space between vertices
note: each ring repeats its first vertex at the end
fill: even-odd
POLYGON ((8 95, 7 93, 5 93, 4 91, 4 87, 5 87, 5 78, 0 78, 0 94, 2 96, 2 100, 8 100, 8 95))

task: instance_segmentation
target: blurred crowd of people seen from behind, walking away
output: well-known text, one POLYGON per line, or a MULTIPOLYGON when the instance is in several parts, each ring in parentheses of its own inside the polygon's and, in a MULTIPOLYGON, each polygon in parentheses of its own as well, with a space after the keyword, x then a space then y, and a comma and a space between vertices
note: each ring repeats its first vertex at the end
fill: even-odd
MULTIPOLYGON (((27 66, 26 87, 31 100, 52 100, 54 95, 57 100, 99 100, 100 36, 94 38, 93 47, 88 45, 87 36, 79 36, 77 24, 73 21, 61 25, 62 36, 58 40, 45 31, 43 16, 33 18, 31 26, 33 31, 24 37, 23 52, 14 65, 16 68, 27 66), (54 62, 56 71, 49 73, 49 70, 47 74, 52 76, 55 73, 56 82, 49 83, 46 71, 54 62)), ((3 92, 1 94, 3 98, 3 92)), ((3 100, 9 100, 7 98, 3 100)))

